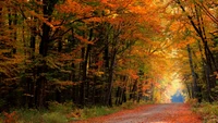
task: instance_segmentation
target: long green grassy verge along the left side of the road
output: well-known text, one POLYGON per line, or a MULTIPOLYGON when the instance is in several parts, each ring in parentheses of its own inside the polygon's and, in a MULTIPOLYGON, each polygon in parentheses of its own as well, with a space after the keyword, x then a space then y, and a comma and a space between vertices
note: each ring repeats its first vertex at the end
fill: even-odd
POLYGON ((71 102, 50 102, 47 110, 14 109, 10 113, 1 112, 0 123, 69 123, 71 121, 107 115, 123 109, 133 109, 146 103, 150 102, 133 103, 129 101, 112 108, 99 106, 78 109, 71 102))

